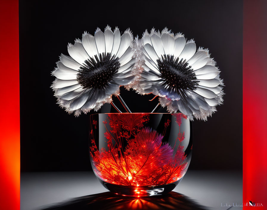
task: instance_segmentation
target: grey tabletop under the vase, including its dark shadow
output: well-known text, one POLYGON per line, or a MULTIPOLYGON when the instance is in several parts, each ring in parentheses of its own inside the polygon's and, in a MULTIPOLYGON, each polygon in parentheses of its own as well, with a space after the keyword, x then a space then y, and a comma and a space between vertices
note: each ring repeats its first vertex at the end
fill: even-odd
POLYGON ((21 210, 242 209, 242 172, 188 170, 176 188, 150 197, 108 192, 93 172, 21 173, 21 210))

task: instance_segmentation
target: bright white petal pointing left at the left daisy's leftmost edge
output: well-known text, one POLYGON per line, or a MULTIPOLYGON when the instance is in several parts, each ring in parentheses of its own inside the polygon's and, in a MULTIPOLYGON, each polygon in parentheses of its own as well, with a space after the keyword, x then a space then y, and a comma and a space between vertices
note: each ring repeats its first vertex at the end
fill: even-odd
POLYGON ((64 66, 61 62, 58 62, 57 66, 58 68, 52 73, 56 78, 62 79, 62 80, 77 79, 78 71, 64 66))

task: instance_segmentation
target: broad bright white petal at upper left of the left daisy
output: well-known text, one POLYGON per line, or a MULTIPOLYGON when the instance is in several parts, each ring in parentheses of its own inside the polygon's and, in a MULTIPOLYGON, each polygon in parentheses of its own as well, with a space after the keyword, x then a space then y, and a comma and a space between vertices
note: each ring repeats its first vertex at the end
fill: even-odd
POLYGON ((83 48, 83 44, 76 42, 74 45, 68 47, 69 55, 77 61, 79 64, 83 65, 84 61, 89 59, 89 55, 83 48))

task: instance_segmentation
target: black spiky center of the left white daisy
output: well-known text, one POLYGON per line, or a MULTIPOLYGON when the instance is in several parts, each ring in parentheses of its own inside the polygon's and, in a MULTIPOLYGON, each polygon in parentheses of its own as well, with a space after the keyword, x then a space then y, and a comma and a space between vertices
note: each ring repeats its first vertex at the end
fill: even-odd
POLYGON ((83 88, 105 89, 112 81, 120 67, 119 58, 110 53, 100 53, 84 61, 77 74, 78 82, 83 88), (94 59, 95 58, 95 59, 94 59))

